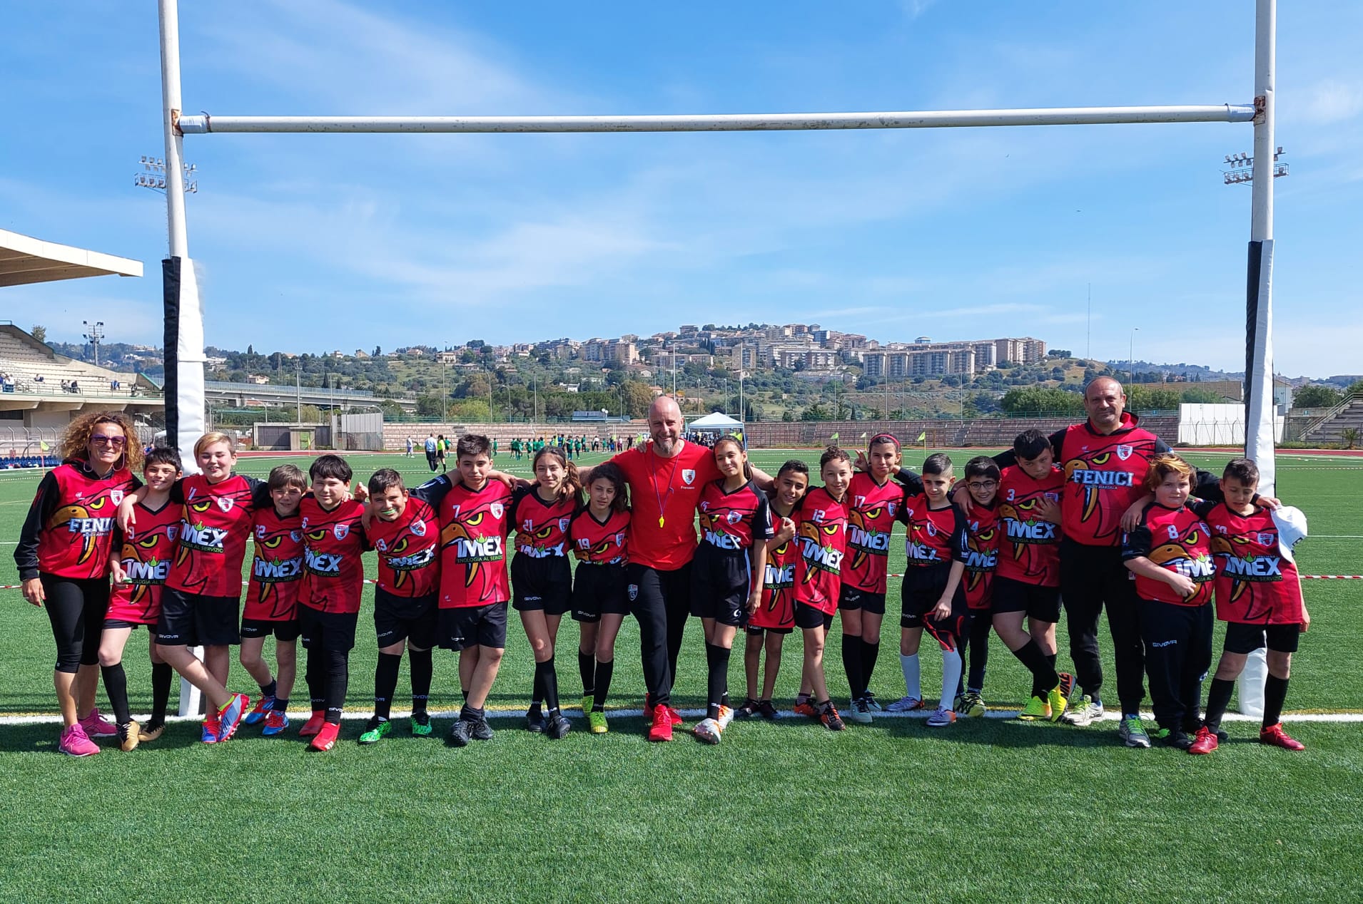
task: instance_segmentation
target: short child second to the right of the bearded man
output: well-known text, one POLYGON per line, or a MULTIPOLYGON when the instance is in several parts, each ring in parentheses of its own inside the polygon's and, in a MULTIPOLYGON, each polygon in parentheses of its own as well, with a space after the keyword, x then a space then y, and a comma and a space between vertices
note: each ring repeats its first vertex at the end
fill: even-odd
POLYGON ((781 671, 781 647, 795 628, 795 569, 800 558, 800 543, 795 538, 792 517, 810 487, 810 467, 804 462, 789 460, 777 471, 776 485, 767 494, 771 511, 773 535, 767 540, 766 575, 762 581, 762 603, 748 618, 747 644, 743 649, 743 668, 748 679, 748 697, 739 707, 739 715, 761 715, 776 719, 771 697, 776 677, 781 671), (756 696, 758 667, 766 651, 762 670, 762 693, 756 696))

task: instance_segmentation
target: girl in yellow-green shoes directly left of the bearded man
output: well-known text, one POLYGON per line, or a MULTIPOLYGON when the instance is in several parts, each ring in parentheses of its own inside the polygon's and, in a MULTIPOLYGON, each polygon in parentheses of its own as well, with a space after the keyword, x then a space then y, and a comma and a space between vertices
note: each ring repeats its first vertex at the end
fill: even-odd
POLYGON ((568 524, 578 557, 572 577, 572 618, 578 622, 578 671, 582 709, 592 734, 611 730, 605 700, 615 674, 615 637, 630 614, 624 562, 628 555, 630 505, 624 474, 605 462, 592 470, 587 504, 568 524))

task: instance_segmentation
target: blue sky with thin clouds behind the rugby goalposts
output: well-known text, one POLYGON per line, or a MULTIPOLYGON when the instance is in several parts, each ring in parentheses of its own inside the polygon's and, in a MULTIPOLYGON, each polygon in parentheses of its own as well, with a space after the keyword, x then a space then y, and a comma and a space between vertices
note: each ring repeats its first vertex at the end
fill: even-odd
MULTIPOLYGON (((1363 372, 1363 4, 1284 3, 1277 369, 1363 372)), ((1238 3, 184 4, 187 112, 695 113, 1250 102, 1238 3)), ((0 226, 146 261, 0 317, 159 342, 155 4, 12 4, 0 226)), ((188 136, 210 344, 816 321, 1243 366, 1247 125, 188 136), (1085 293, 1092 283, 1092 339, 1085 293)))

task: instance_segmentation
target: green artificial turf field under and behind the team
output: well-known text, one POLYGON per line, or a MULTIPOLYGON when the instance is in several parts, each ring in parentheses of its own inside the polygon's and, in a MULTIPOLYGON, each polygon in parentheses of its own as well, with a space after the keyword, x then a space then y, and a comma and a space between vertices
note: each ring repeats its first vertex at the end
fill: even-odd
MULTIPOLYGON (((960 466, 976 453, 953 457, 960 466)), ((815 463, 818 452, 752 453, 770 472, 792 456, 815 463)), ((905 460, 916 467, 921 457, 909 451, 905 460)), ((1229 456, 1189 457, 1220 471, 1229 456)), ((237 470, 264 477, 284 460, 244 457, 237 470)), ((428 475, 420 456, 350 460, 361 479, 383 466, 413 485, 428 475)), ((497 466, 529 474, 506 452, 497 466)), ((1310 519, 1313 536, 1298 546, 1302 573, 1360 570, 1359 466, 1363 459, 1278 459, 1278 496, 1310 519)), ((11 553, 40 477, 0 472, 0 584, 18 583, 11 553)), ((891 546, 890 570, 902 564, 902 543, 891 546)), ((1313 624, 1293 662, 1288 711, 1363 713, 1363 581, 1306 581, 1306 599, 1313 624)), ((10 716, 0 724, 0 900, 1363 897, 1356 722, 1285 716, 1307 745, 1298 754, 1255 743, 1257 723, 1227 722, 1229 743, 1190 757, 1160 746, 1127 750, 1112 722, 1069 728, 962 719, 928 728, 920 719, 879 717, 833 734, 791 717, 735 722, 710 747, 683 732, 671 745, 649 745, 637 716, 613 717, 605 735, 575 719, 560 742, 507 716, 493 720, 493 741, 455 750, 440 741, 448 723, 439 715, 457 705, 455 656, 438 652, 428 739, 408 737, 398 719, 387 739, 360 747, 361 722, 348 720, 337 749, 311 754, 293 731, 264 739, 243 727, 229 743, 206 746, 196 723, 172 723, 131 754, 106 747, 71 760, 55 753, 55 724, 22 722, 56 708, 46 618, 18 591, 0 591, 0 715, 10 716)), ((350 667, 357 712, 372 705, 368 604, 350 667)), ((895 609, 891 580, 890 615, 895 609)), ((515 709, 527 700, 533 659, 514 615, 507 634, 489 707, 515 709)), ((1059 634, 1065 668, 1063 619, 1059 634)), ((675 692, 683 708, 703 705, 699 637, 692 624, 675 692)), ((150 705, 144 644, 138 632, 125 652, 134 713, 150 705)), ((872 681, 882 700, 904 692, 897 644, 887 617, 872 681)), ((557 662, 566 703, 579 690, 575 648, 577 628, 564 619, 557 662)), ((643 683, 630 619, 616 651, 609 705, 637 709, 643 683)), ((934 698, 940 656, 927 643, 921 653, 923 688, 934 698)), ((1021 707, 1026 671, 996 637, 990 653, 985 700, 1021 707)), ((846 682, 837 625, 825 662, 838 701, 846 682)), ((300 673, 301 664, 300 655, 300 673)), ((799 667, 792 636, 780 708, 789 709, 799 667)), ((1109 658, 1105 670, 1111 685, 1109 658)), ((406 681, 403 666, 397 707, 406 681)), ((232 683, 258 693, 240 666, 232 683)), ((729 686, 743 697, 737 649, 729 686)), ((293 698, 304 697, 300 675, 293 698)))

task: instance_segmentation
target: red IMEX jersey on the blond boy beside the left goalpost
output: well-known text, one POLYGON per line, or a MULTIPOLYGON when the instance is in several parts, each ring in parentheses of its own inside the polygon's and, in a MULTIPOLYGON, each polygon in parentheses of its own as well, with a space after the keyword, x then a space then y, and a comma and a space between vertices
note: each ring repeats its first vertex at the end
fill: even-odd
POLYGON ((256 487, 263 489, 264 482, 240 474, 217 483, 209 483, 202 474, 180 479, 172 493, 172 498, 184 500, 180 549, 166 587, 203 596, 241 596, 241 560, 247 555, 256 487))

